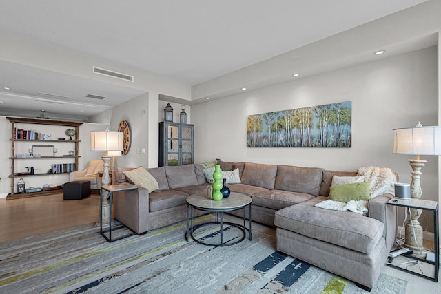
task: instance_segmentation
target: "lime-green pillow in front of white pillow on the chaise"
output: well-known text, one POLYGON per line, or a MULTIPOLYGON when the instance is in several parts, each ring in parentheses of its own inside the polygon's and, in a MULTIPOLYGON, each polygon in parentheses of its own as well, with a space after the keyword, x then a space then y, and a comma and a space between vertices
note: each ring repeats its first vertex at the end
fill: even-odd
POLYGON ((371 200, 369 182, 354 182, 329 187, 329 199, 340 202, 351 200, 371 200))

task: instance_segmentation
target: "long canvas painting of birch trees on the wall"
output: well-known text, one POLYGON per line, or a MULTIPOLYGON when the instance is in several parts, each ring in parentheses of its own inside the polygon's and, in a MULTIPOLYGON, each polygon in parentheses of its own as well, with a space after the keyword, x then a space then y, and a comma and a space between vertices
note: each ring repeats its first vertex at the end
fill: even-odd
POLYGON ((247 116, 247 147, 351 147, 352 102, 247 116))

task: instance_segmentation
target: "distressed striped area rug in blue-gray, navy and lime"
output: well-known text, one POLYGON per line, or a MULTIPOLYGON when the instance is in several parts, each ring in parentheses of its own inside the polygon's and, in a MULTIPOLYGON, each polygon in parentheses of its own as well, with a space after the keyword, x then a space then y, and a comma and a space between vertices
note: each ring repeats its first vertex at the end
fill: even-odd
MULTIPOLYGON (((180 222, 109 243, 90 224, 2 243, 0 293, 368 293, 276 251, 269 227, 253 223, 251 241, 247 233, 223 247, 187 242, 185 231, 180 222)), ((225 225, 223 240, 240 233, 225 225)), ((218 242, 220 227, 201 227, 195 236, 218 242)), ((371 293, 405 293, 406 286, 382 273, 371 293)))

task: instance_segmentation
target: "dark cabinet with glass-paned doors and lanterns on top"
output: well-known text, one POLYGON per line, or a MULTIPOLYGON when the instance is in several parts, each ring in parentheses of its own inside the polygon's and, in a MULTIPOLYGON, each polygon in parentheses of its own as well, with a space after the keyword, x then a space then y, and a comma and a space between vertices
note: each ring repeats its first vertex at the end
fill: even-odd
POLYGON ((194 125, 159 123, 159 166, 189 165, 194 160, 194 125))

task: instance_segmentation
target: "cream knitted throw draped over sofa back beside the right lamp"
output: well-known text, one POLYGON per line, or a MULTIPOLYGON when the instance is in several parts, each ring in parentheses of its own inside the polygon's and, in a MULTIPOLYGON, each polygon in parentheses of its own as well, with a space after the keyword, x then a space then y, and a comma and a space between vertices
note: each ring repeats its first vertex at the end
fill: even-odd
POLYGON ((358 176, 365 176, 365 182, 369 182, 371 198, 384 193, 395 195, 393 184, 396 176, 388 167, 358 167, 358 176))

